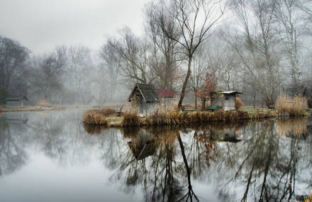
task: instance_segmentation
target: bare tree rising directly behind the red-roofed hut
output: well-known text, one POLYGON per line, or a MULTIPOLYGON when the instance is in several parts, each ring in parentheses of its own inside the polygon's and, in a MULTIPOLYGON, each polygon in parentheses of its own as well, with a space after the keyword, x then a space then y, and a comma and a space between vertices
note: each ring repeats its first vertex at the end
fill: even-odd
POLYGON ((167 27, 167 31, 175 38, 179 38, 179 30, 174 19, 166 16, 161 6, 151 1, 145 7, 147 19, 145 32, 152 47, 149 64, 159 80, 159 86, 163 89, 172 89, 174 82, 177 82, 176 71, 181 61, 181 54, 179 54, 177 41, 168 38, 162 27, 167 27))

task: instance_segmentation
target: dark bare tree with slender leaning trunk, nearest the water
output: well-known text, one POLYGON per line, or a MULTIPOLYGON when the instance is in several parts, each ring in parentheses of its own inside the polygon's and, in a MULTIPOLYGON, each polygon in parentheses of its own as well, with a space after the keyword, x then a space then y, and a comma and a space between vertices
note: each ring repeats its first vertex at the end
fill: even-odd
POLYGON ((188 62, 187 73, 177 106, 180 109, 184 99, 186 85, 191 76, 191 62, 194 52, 196 52, 204 40, 211 36, 211 28, 221 21, 225 9, 222 8, 221 1, 172 0, 169 3, 169 9, 165 9, 167 9, 169 17, 174 18, 174 23, 177 23, 181 35, 179 37, 172 35, 169 31, 170 27, 165 23, 162 23, 160 26, 162 26, 162 30, 168 38, 175 40, 182 46, 183 53, 186 55, 188 62))

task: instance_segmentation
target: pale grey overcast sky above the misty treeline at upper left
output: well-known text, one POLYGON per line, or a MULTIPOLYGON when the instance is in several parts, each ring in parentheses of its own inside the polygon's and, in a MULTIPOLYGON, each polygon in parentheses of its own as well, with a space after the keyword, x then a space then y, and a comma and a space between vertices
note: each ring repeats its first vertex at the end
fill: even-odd
POLYGON ((0 0, 0 35, 34 53, 56 45, 96 50, 123 26, 140 34, 148 0, 0 0))

